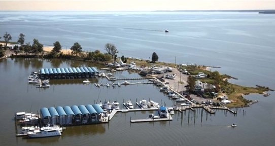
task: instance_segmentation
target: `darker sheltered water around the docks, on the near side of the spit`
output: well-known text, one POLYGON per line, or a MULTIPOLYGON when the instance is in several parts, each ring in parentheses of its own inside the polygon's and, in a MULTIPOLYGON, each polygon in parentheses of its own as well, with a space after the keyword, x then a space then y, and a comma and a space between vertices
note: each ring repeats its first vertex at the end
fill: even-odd
MULTIPOLYGON (((209 115, 201 109, 196 114, 186 112, 176 113, 170 122, 130 123, 130 119, 143 119, 149 112, 118 113, 108 124, 67 127, 61 137, 28 139, 16 137, 13 114, 18 111, 37 113, 41 107, 93 104, 104 100, 131 99, 133 102, 149 98, 156 102, 171 106, 173 101, 159 92, 153 85, 128 85, 120 88, 100 88, 93 84, 83 85, 82 80, 51 81, 49 89, 36 89, 27 83, 26 78, 32 70, 41 67, 53 67, 53 62, 61 62, 60 67, 66 67, 70 61, 38 60, 38 59, 4 59, 0 60, 0 145, 273 145, 275 134, 274 98, 264 98, 251 95, 249 99, 260 100, 248 108, 234 109, 238 114, 217 111, 209 115), (245 113, 243 113, 243 110, 245 113), (189 116, 188 116, 189 115, 189 116), (5 117, 5 118, 4 118, 5 117), (189 117, 189 118, 188 118, 189 117), (228 127, 232 123, 238 126, 228 127)), ((78 66, 90 66, 74 61, 78 66)), ((117 77, 138 77, 127 71, 116 72, 117 77)), ((92 82, 105 83, 106 79, 95 78, 92 82)), ((142 80, 140 82, 143 82, 142 80)))

